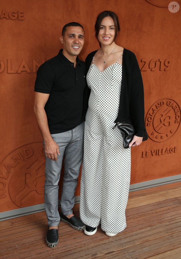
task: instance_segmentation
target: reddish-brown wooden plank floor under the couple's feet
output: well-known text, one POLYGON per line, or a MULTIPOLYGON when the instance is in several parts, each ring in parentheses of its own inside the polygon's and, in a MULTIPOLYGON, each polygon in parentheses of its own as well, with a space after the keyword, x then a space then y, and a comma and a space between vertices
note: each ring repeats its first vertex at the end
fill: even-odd
POLYGON ((3 221, 0 258, 181 259, 181 182, 130 192, 126 216, 126 229, 115 237, 100 227, 86 236, 60 222, 55 248, 45 242, 45 212, 3 221))

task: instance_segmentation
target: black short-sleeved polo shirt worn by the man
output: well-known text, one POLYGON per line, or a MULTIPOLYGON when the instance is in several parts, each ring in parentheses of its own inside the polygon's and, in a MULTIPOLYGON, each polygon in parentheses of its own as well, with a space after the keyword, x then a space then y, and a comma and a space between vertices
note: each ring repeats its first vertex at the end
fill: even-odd
POLYGON ((49 93, 45 105, 51 134, 71 130, 83 122, 83 94, 86 87, 85 63, 74 63, 63 54, 43 63, 37 71, 35 92, 49 93))

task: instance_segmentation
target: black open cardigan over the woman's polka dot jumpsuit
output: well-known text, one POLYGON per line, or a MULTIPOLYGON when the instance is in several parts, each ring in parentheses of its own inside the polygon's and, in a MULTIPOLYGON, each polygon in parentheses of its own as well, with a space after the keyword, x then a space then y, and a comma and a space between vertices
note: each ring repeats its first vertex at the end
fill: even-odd
MULTIPOLYGON (((91 52, 86 57, 86 73, 89 70, 92 58, 94 57, 96 52, 97 50, 91 52)), ((84 95, 85 105, 88 103, 89 95, 90 89, 89 87, 86 87, 84 95)), ((115 123, 124 122, 130 118, 133 118, 135 123, 135 135, 138 137, 143 137, 145 130, 143 81, 135 54, 128 49, 124 49, 122 61, 120 104, 118 117, 116 118, 115 123)))

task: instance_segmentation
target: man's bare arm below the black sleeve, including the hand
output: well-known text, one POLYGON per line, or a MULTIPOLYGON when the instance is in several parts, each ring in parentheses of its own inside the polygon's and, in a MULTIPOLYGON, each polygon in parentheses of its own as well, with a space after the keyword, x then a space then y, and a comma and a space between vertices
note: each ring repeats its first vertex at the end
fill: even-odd
POLYGON ((45 155, 46 157, 57 161, 57 154, 59 153, 59 147, 57 143, 52 139, 49 128, 48 121, 45 112, 45 104, 48 100, 49 94, 35 92, 35 104, 34 104, 34 112, 37 118, 38 127, 42 133, 44 142, 45 142, 45 155))

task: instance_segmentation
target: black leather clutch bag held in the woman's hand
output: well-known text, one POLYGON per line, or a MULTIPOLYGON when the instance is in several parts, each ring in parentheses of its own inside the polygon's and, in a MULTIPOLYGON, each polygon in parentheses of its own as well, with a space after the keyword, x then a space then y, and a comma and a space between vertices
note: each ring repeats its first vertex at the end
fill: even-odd
MULTIPOLYGON (((135 135, 135 127, 134 127, 134 122, 132 119, 125 121, 125 122, 117 122, 115 124, 115 126, 113 127, 113 129, 115 127, 118 127, 118 129, 121 132, 121 135, 123 137, 123 146, 124 148, 128 148, 130 142, 132 141, 134 135, 135 135)), ((146 132, 146 130, 144 131, 144 136, 143 136, 143 140, 145 141, 148 139, 148 134, 146 132)))

